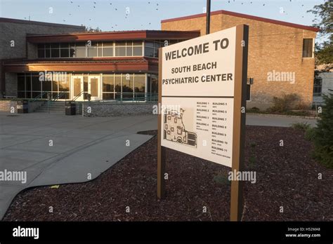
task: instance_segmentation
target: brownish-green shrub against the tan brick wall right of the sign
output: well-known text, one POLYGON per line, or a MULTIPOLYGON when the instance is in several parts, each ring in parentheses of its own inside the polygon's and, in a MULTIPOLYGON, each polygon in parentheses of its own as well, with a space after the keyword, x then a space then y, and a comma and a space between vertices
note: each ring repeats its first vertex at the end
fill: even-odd
POLYGON ((267 111, 284 113, 295 107, 297 102, 299 102, 299 95, 295 93, 273 97, 273 107, 268 108, 267 111))

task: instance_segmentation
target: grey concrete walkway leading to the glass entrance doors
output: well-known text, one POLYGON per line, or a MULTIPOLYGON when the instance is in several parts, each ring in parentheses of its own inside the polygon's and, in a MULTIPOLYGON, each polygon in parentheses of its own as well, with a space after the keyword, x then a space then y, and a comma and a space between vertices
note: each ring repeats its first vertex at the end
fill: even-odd
POLYGON ((151 138, 138 131, 157 129, 157 116, 8 115, 0 113, 0 172, 27 172, 27 182, 0 181, 0 219, 23 189, 94 179, 151 138))

